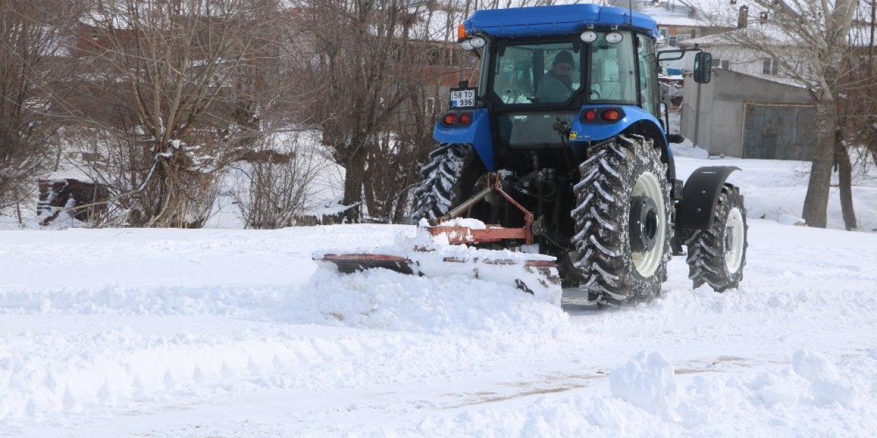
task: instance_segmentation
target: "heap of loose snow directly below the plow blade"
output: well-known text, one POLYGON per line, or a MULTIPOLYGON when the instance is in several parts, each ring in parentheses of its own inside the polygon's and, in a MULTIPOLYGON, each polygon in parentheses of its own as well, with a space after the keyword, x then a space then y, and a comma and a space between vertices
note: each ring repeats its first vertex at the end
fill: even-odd
POLYGON ((383 269, 318 271, 290 294, 280 317, 295 323, 474 336, 501 350, 569 336, 569 318, 560 307, 520 289, 465 276, 428 278, 383 269))

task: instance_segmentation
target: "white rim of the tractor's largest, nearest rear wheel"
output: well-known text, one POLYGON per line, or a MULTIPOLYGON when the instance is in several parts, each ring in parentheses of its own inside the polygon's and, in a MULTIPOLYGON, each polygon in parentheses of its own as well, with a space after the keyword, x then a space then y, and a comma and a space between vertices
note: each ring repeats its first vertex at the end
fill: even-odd
MULTIPOLYGON (((667 207, 664 205, 664 194, 661 191, 658 178, 653 173, 646 172, 639 175, 631 193, 631 199, 637 198, 651 199, 657 212, 655 223, 649 227, 654 227, 654 244, 651 248, 635 251, 631 246, 631 258, 637 272, 643 277, 651 277, 658 270, 658 266, 664 258, 664 240, 667 233, 667 207)), ((634 231, 629 230, 629 232, 634 231)))

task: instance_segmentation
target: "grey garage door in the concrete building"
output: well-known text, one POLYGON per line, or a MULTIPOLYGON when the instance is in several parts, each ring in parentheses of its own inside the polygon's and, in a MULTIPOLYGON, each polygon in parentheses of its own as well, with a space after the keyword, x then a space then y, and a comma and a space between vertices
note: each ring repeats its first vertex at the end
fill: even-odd
POLYGON ((816 152, 816 108, 745 103, 743 158, 809 161, 816 152))

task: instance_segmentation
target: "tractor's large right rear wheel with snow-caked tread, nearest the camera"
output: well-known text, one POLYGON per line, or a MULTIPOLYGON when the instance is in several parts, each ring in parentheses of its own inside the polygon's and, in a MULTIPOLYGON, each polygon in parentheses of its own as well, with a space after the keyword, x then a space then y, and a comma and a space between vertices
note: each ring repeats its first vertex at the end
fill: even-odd
POLYGON ((612 306, 660 295, 670 259, 667 165, 652 140, 612 138, 579 166, 572 211, 580 286, 590 300, 612 306))

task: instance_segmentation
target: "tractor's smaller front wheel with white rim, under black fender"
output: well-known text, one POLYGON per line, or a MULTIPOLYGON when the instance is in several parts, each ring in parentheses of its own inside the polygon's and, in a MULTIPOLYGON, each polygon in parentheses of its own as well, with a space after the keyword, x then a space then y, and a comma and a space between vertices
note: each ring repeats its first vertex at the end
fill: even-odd
POLYGON ((716 292, 740 286, 746 265, 746 208, 737 187, 725 184, 716 201, 712 223, 686 240, 688 278, 695 288, 708 284, 716 292))

